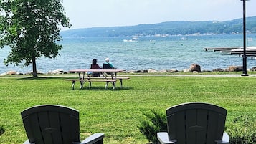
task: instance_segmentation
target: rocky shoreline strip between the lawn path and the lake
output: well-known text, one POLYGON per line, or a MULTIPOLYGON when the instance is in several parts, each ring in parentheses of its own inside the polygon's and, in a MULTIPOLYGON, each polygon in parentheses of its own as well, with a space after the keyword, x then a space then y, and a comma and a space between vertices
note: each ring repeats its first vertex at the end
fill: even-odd
MULTIPOLYGON (((256 71, 256 67, 252 67, 252 69, 247 69, 248 71, 256 71)), ((163 69, 163 70, 156 70, 156 69, 145 69, 145 70, 128 70, 124 71, 123 73, 175 73, 175 72, 193 72, 193 73, 199 73, 199 72, 240 72, 242 71, 242 66, 230 66, 227 67, 227 69, 212 69, 212 70, 201 70, 201 66, 199 64, 191 64, 191 66, 188 69, 183 69, 182 71, 179 71, 177 69, 163 69)), ((43 72, 37 72, 39 75, 63 75, 68 74, 70 72, 65 71, 63 69, 55 69, 46 73, 43 72)), ((21 73, 16 71, 8 71, 0 74, 0 76, 6 76, 6 75, 32 75, 32 72, 27 73, 21 73)))

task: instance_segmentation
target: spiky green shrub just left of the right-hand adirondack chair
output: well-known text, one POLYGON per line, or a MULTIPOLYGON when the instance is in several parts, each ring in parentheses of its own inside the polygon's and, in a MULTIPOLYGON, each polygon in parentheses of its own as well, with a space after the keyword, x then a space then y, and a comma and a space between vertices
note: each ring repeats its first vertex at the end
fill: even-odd
POLYGON ((156 133, 167 131, 166 114, 160 114, 152 110, 151 113, 143 113, 143 115, 145 115, 147 119, 142 120, 138 128, 150 142, 157 143, 156 133))

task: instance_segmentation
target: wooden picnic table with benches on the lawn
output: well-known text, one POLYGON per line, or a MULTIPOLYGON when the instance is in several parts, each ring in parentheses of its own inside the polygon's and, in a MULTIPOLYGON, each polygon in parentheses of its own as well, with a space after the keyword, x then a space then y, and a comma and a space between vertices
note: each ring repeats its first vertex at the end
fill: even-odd
POLYGON ((90 87, 92 85, 91 82, 106 82, 105 89, 108 87, 108 83, 110 82, 113 85, 113 89, 115 89, 116 80, 120 80, 121 87, 123 86, 123 79, 129 79, 129 77, 117 77, 118 72, 123 72, 123 69, 72 69, 70 73, 78 73, 79 79, 67 79, 68 81, 72 81, 72 89, 74 90, 75 82, 80 81, 80 89, 82 89, 83 84, 85 82, 90 83, 90 87), (93 75, 85 75, 88 72, 101 72, 103 77, 92 77, 93 75), (108 77, 108 74, 110 77, 108 77))

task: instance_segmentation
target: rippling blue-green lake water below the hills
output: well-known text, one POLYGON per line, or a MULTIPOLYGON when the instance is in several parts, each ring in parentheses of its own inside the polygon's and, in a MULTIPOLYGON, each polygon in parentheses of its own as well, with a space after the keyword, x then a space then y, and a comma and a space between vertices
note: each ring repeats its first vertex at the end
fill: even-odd
MULTIPOLYGON (((131 37, 105 38, 64 38, 62 50, 57 59, 40 58, 37 70, 49 72, 54 69, 90 68, 92 59, 98 59, 100 66, 105 57, 118 69, 188 69, 191 64, 199 64, 202 70, 215 68, 225 69, 231 65, 242 66, 242 57, 219 52, 206 52, 204 47, 242 47, 243 36, 237 35, 204 35, 204 36, 138 37, 138 42, 123 42, 131 37)), ((256 34, 249 34, 247 46, 255 46, 256 34)), ((0 74, 9 70, 30 72, 32 67, 20 68, 3 63, 10 49, 0 49, 0 74)), ((247 58, 247 69, 256 67, 256 60, 247 58)))

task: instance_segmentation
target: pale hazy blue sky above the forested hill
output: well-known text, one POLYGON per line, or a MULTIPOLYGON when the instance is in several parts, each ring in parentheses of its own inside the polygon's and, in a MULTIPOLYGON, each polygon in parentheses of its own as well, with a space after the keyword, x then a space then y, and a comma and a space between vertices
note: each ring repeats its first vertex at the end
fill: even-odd
MULTIPOLYGON (((240 0, 63 0, 71 29, 242 18, 240 0)), ((256 16, 256 0, 246 1, 256 16)), ((64 29, 65 30, 65 29, 64 29)))

